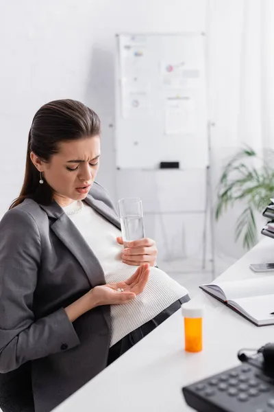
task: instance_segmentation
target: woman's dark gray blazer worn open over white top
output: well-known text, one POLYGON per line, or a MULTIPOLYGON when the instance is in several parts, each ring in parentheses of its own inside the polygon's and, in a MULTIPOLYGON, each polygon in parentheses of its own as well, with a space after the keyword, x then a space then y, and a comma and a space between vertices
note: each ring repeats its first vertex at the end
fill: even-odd
MULTIPOLYGON (((85 202, 120 228, 101 185, 92 185, 85 202)), ((26 385, 30 371, 36 412, 51 411, 105 368, 110 307, 92 309, 73 324, 64 311, 101 284, 99 261, 58 203, 44 206, 27 199, 3 216, 0 373, 4 378, 14 371, 16 385, 26 385)))

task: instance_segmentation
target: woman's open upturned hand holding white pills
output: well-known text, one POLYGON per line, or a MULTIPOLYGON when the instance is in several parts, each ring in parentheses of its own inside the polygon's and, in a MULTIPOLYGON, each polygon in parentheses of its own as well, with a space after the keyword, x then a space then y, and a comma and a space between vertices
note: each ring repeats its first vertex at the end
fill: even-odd
POLYGON ((142 264, 125 282, 95 286, 90 297, 96 306, 127 304, 144 290, 149 279, 149 264, 142 264), (123 292, 117 292, 123 289, 123 292))

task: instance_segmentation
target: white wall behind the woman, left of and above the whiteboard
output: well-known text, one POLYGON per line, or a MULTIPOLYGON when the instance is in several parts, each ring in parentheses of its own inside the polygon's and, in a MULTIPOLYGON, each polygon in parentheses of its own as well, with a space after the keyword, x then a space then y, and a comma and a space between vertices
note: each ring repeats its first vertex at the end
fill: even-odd
POLYGON ((13 0, 1 2, 0 216, 21 187, 36 110, 82 100, 103 122, 101 182, 114 195, 114 35, 204 30, 203 0, 13 0), (3 192, 2 192, 3 193, 3 192))

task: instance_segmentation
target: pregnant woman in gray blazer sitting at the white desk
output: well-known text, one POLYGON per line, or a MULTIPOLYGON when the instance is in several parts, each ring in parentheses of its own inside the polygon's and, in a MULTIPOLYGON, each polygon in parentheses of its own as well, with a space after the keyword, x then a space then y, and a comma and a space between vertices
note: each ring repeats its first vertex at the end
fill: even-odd
POLYGON ((154 267, 155 242, 123 248, 95 182, 100 121, 74 100, 32 122, 20 195, 0 222, 0 407, 49 412, 189 300, 154 267))

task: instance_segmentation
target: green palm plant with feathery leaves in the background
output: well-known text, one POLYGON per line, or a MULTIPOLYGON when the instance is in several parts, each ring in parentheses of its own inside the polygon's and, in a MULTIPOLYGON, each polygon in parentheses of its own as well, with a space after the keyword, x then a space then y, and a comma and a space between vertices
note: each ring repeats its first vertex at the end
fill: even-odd
POLYGON ((243 247, 250 249, 258 242, 255 212, 262 214, 273 194, 274 167, 271 167, 271 162, 266 163, 250 147, 241 148, 228 161, 221 174, 215 218, 219 220, 227 207, 245 202, 245 208, 236 222, 235 235, 236 240, 242 235, 243 247), (258 168, 254 165, 256 160, 260 163, 258 168))

